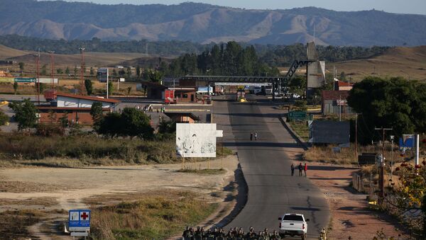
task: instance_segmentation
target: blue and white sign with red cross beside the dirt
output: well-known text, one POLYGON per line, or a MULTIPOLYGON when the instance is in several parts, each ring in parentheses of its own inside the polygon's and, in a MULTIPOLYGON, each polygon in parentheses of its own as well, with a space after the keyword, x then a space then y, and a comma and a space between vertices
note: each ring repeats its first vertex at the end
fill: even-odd
POLYGON ((90 210, 70 210, 68 216, 71 236, 89 236, 90 210))

